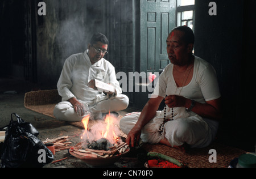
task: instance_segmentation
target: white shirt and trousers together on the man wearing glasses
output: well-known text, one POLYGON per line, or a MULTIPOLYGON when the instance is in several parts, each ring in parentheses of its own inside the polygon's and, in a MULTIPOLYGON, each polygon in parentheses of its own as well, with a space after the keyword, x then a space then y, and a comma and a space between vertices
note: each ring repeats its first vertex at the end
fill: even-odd
POLYGON ((55 106, 53 113, 57 119, 63 121, 81 121, 81 117, 77 115, 73 105, 68 101, 73 97, 84 104, 91 116, 123 110, 129 105, 129 98, 121 94, 122 89, 115 76, 114 66, 104 58, 92 65, 86 52, 74 54, 65 61, 57 89, 63 102, 55 106), (110 97, 88 87, 92 79, 115 87, 117 96, 110 97))

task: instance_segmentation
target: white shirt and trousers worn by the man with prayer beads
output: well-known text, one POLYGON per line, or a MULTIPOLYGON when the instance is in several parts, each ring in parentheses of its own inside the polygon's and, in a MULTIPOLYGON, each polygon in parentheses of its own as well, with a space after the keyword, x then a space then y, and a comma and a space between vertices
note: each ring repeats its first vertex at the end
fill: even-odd
MULTIPOLYGON (((169 95, 180 95, 199 103, 218 99, 220 91, 213 67, 203 59, 195 57, 193 77, 191 82, 177 88, 174 76, 173 65, 170 63, 159 76, 158 83, 151 97, 169 95)), ((167 106, 166 118, 171 119, 171 110, 167 106)), ((138 121, 140 113, 127 114, 120 121, 121 130, 128 134, 138 121)), ((143 142, 159 143, 164 137, 172 146, 181 146, 184 143, 191 147, 205 147, 214 139, 218 122, 203 118, 194 112, 187 112, 184 107, 174 108, 174 121, 164 125, 164 132, 159 133, 159 126, 164 120, 164 112, 158 111, 150 122, 143 127, 141 139, 143 142)))

